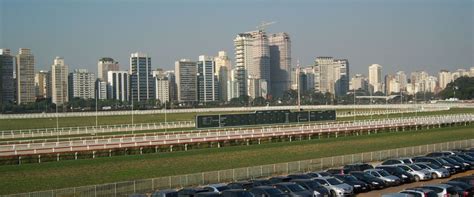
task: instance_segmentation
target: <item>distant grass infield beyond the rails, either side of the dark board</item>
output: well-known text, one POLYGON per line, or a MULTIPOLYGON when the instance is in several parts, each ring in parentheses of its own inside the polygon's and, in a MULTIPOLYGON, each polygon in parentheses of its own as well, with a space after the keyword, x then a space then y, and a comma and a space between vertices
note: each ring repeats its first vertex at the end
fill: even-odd
MULTIPOLYGON (((376 111, 377 109, 374 109, 376 111)), ((342 109, 338 111, 352 111, 351 109, 342 109)), ((369 111, 369 109, 361 109, 361 111, 369 111)), ((454 108, 449 113, 466 113, 474 112, 474 109, 460 109, 454 108)), ((229 112, 226 112, 229 113, 229 112)), ((230 113, 241 113, 241 112, 230 112, 230 113)), ((216 114, 216 113, 199 113, 199 114, 216 114)), ((446 114, 443 112, 428 112, 418 113, 420 115, 428 114, 446 114)), ((408 115, 408 114, 404 114, 408 115)), ((175 113, 168 114, 167 121, 189 121, 194 120, 196 113, 175 113)), ((391 114, 389 117, 396 117, 396 114, 391 114)), ((399 115, 401 116, 401 115, 399 115)), ((386 116, 373 116, 372 118, 384 118, 386 116)), ((367 117, 357 117, 357 119, 368 119, 367 117)), ((341 118, 338 120, 353 120, 354 118, 341 118)), ((134 115, 134 123, 157 123, 164 122, 164 114, 147 114, 147 115, 134 115)), ((99 125, 114 125, 114 124, 131 124, 131 115, 121 116, 99 116, 99 125)), ((59 127, 76 127, 76 126, 92 126, 95 125, 95 116, 91 117, 67 117, 59 118, 59 127)), ((55 118, 37 118, 37 119, 5 119, 0 120, 0 130, 16 130, 16 129, 37 129, 37 128, 54 128, 56 127, 55 118)))

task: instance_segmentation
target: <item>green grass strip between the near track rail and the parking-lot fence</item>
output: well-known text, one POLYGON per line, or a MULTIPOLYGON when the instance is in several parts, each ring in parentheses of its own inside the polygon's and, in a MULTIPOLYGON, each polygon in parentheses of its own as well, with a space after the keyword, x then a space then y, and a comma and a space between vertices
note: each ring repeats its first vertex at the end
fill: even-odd
POLYGON ((474 125, 470 125, 337 139, 0 166, 0 194, 188 174, 463 140, 473 138, 473 129, 474 125))

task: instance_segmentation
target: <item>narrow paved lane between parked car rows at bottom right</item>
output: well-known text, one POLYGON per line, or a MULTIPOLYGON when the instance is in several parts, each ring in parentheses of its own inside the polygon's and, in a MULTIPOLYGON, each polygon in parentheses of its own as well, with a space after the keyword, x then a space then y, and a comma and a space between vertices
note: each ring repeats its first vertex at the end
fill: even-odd
POLYGON ((390 188, 383 189, 383 190, 375 190, 375 191, 371 191, 371 192, 368 192, 368 193, 359 194, 357 196, 360 196, 360 197, 382 196, 382 194, 396 193, 396 192, 402 191, 406 188, 446 182, 446 181, 449 181, 452 178, 467 176, 467 175, 472 175, 472 174, 474 174, 474 170, 459 173, 459 174, 453 175, 449 178, 433 179, 433 180, 430 180, 430 181, 420 181, 420 182, 414 182, 414 183, 410 183, 410 184, 403 184, 403 185, 400 185, 400 186, 397 186, 397 187, 390 187, 390 188))

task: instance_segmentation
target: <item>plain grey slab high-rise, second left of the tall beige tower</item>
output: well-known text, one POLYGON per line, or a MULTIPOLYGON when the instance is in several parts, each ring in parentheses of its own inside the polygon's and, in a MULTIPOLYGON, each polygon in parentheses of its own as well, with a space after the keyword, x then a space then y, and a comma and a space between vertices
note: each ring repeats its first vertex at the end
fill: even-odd
POLYGON ((175 62, 178 102, 193 104, 197 96, 197 65, 195 61, 182 59, 175 62))

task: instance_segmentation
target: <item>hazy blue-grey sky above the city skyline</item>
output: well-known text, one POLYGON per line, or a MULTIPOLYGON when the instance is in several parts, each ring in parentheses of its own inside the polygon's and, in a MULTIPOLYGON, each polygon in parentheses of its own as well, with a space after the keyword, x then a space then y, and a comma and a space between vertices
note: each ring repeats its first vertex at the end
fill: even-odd
POLYGON ((275 21, 268 33, 287 32, 292 60, 318 56, 349 60, 351 75, 474 66, 473 0, 0 0, 0 48, 31 48, 36 69, 56 56, 70 71, 97 72, 100 57, 128 70, 133 52, 153 68, 226 51, 233 39, 275 21))

